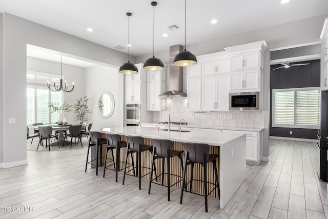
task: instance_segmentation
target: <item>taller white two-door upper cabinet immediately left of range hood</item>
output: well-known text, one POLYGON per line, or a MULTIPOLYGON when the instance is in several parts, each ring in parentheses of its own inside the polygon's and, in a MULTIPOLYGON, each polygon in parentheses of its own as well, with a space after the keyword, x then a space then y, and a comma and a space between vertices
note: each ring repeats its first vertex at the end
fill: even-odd
POLYGON ((165 83, 153 82, 147 83, 147 110, 160 111, 165 110, 165 99, 158 97, 165 91, 165 83))

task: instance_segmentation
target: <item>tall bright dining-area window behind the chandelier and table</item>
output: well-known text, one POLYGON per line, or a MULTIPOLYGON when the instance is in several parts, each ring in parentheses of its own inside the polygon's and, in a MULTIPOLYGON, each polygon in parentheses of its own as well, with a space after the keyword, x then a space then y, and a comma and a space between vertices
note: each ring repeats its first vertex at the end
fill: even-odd
POLYGON ((47 87, 47 80, 54 81, 57 75, 39 72, 27 73, 26 89, 26 114, 28 125, 33 123, 55 123, 58 121, 59 113, 51 113, 49 102, 63 104, 63 92, 53 92, 47 87))

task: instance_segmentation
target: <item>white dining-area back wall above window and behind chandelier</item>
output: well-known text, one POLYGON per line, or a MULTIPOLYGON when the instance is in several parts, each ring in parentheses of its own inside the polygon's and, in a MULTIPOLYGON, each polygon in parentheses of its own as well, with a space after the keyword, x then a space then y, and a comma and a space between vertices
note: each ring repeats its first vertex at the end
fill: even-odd
MULTIPOLYGON (((27 70, 60 75, 60 63, 27 57, 27 70)), ((69 89, 72 87, 72 82, 74 82, 74 90, 64 93, 65 101, 70 105, 74 105, 77 98, 85 95, 85 68, 63 64, 61 72, 69 84, 69 89)), ((72 107, 71 110, 71 112, 65 113, 66 120, 70 124, 79 123, 74 119, 74 108, 72 107)))

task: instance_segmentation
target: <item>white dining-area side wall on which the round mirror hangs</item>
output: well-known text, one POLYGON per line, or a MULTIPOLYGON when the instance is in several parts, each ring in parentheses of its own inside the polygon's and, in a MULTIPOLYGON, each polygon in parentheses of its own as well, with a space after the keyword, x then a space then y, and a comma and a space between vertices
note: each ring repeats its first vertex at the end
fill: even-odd
POLYGON ((85 94, 90 98, 89 123, 93 123, 92 129, 123 126, 124 102, 123 102, 123 77, 117 68, 107 66, 94 66, 86 68, 85 94), (103 118, 98 112, 98 99, 104 91, 109 91, 114 96, 115 108, 110 118, 103 118))

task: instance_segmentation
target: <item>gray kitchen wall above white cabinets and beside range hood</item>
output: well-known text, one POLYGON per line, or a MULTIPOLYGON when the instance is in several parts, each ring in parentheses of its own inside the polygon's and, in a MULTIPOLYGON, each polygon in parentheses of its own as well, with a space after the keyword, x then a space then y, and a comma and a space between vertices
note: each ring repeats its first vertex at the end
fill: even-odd
MULTIPOLYGON (((294 45, 319 42, 319 36, 323 27, 324 19, 328 14, 310 17, 295 22, 280 24, 268 28, 226 36, 202 42, 194 45, 187 45, 187 50, 195 55, 209 54, 223 51, 224 48, 241 44, 265 41, 269 49, 265 52, 264 59, 264 100, 263 111, 265 111, 265 128, 263 131, 263 157, 269 157, 269 127, 270 127, 270 49, 288 47, 294 45)), ((136 63, 144 63, 152 54, 136 57, 136 63)), ((164 63, 169 64, 169 48, 167 51, 156 52, 155 56, 164 63)), ((186 69, 184 69, 185 71, 186 69)), ((167 70, 167 82, 169 70, 167 70)), ((183 91, 187 91, 187 76, 183 74, 183 91)), ((167 83, 167 90, 168 90, 167 83)))

